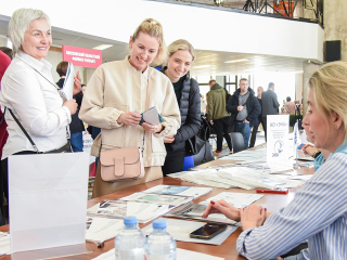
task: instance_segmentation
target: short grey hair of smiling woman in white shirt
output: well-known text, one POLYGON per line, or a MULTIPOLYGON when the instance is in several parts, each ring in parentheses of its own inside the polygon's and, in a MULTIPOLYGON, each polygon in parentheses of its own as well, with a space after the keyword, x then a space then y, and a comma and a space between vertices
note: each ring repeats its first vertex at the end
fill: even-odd
POLYGON ((35 9, 18 9, 16 10, 9 23, 9 38, 13 44, 13 52, 17 53, 24 42, 25 31, 29 28, 30 23, 34 20, 44 18, 50 26, 50 17, 41 10, 35 9))

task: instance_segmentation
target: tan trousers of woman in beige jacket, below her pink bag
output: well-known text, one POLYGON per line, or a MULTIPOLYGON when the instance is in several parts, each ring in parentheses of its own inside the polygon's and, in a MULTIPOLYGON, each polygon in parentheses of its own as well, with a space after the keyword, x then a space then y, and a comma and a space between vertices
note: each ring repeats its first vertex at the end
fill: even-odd
POLYGON ((116 182, 105 182, 101 179, 101 164, 99 161, 98 169, 95 173, 94 186, 92 198, 107 195, 130 186, 136 186, 145 182, 154 181, 163 178, 162 167, 144 167, 144 177, 137 180, 126 180, 126 181, 116 181, 116 182))

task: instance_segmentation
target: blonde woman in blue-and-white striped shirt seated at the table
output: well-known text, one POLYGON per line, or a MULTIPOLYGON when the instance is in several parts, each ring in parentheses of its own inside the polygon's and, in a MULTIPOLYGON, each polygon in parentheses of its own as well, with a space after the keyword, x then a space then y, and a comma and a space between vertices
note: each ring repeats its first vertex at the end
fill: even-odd
POLYGON ((236 248, 248 259, 275 259, 304 240, 308 249, 285 260, 347 258, 347 63, 327 63, 311 76, 308 106, 314 146, 332 154, 293 200, 273 213, 259 205, 236 209, 211 202, 203 213, 241 221, 236 248))

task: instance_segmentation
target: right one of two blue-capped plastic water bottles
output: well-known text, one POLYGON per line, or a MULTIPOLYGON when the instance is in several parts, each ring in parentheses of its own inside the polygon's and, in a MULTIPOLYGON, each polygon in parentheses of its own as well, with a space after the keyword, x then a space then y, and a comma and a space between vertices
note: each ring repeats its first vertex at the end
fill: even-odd
POLYGON ((176 240, 166 231, 166 220, 153 221, 153 232, 144 246, 147 260, 176 260, 176 240))

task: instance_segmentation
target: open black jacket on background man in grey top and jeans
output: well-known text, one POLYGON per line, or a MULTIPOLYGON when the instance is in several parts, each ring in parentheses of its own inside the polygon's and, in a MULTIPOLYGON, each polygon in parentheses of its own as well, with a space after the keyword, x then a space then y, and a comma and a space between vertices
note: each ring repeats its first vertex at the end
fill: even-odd
MULTIPOLYGON (((258 99, 254 95, 253 89, 248 88, 249 96, 246 101, 246 107, 248 116, 246 117, 247 121, 249 121, 249 127, 258 126, 258 116, 261 114, 261 106, 258 102, 258 99)), ((237 89, 234 94, 228 100, 227 104, 227 110, 229 113, 232 113, 234 118, 236 118, 237 115, 237 106, 242 105, 239 104, 239 95, 240 95, 240 89, 237 89)))

